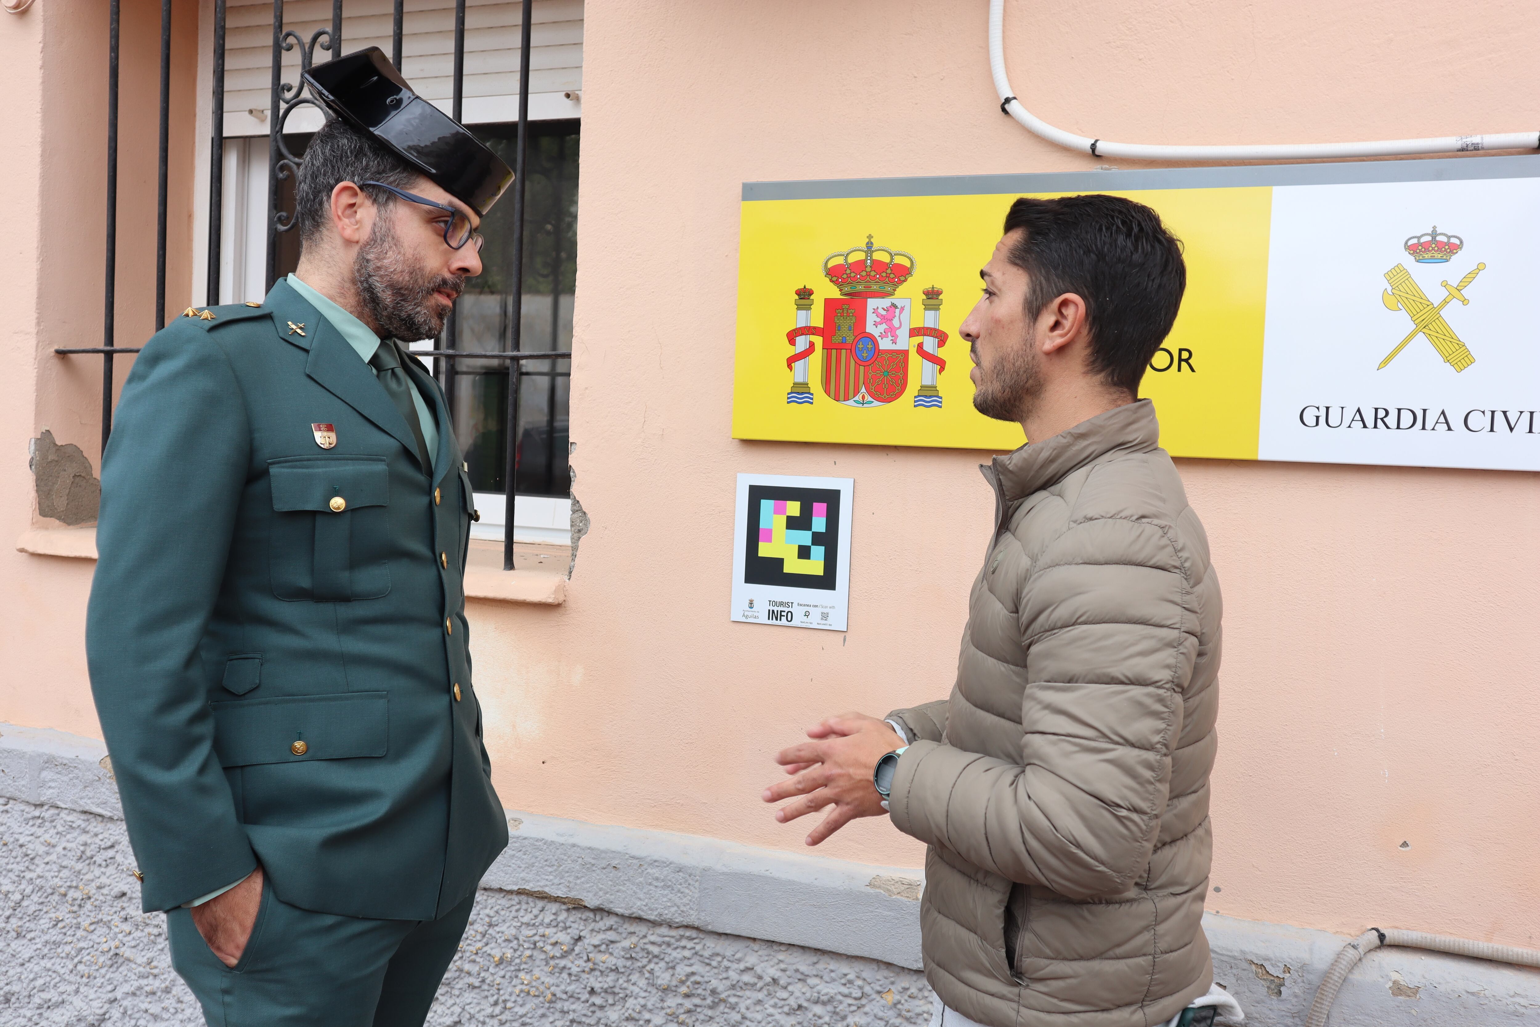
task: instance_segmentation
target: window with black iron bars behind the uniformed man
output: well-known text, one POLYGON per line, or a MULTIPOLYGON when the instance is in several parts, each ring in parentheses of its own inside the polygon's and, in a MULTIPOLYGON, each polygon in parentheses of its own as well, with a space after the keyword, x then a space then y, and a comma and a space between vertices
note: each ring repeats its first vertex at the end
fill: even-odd
MULTIPOLYGON (((157 245, 156 245, 156 328, 165 325, 166 296, 166 189, 168 189, 168 125, 171 83, 172 3, 199 3, 199 0, 162 0, 160 3, 160 137, 159 137, 159 189, 157 189, 157 245)), ((299 256, 299 239, 293 228, 294 176, 303 163, 303 142, 319 123, 314 100, 306 95, 299 72, 319 60, 360 49, 368 45, 390 46, 391 60, 408 79, 417 77, 427 83, 424 95, 440 102, 457 120, 473 122, 477 131, 514 168, 511 202, 504 200, 488 217, 484 234, 488 246, 484 251, 485 274, 462 296, 445 334, 437 340, 420 340, 411 348, 430 359, 436 374, 445 385, 456 416, 456 431, 473 471, 477 502, 491 507, 494 502, 502 516, 504 568, 513 570, 514 530, 525 522, 517 514, 519 496, 525 503, 550 500, 553 505, 545 517, 550 533, 565 536, 570 503, 570 473, 567 470, 567 397, 570 345, 571 345, 571 296, 576 268, 576 197, 578 197, 578 122, 531 120, 531 31, 536 20, 545 23, 542 49, 554 54, 542 60, 539 72, 542 92, 536 97, 545 103, 544 117, 550 119, 554 97, 564 95, 567 106, 576 111, 581 74, 582 0, 541 0, 541 15, 534 14, 534 0, 521 0, 516 22, 510 22, 513 5, 496 0, 470 0, 479 8, 487 25, 476 48, 477 69, 473 74, 476 88, 470 99, 479 105, 479 119, 465 119, 467 100, 467 3, 468 0, 353 0, 350 14, 343 15, 343 0, 330 5, 305 0, 291 3, 293 14, 300 18, 285 25, 285 0, 273 0, 271 26, 266 25, 265 0, 202 0, 203 23, 211 40, 208 80, 209 86, 209 149, 208 149, 208 197, 203 208, 206 259, 203 269, 205 303, 213 305, 233 297, 236 291, 260 291, 280 274, 294 266, 299 256), (330 6, 330 11, 325 8, 330 6), (234 22, 229 15, 234 14, 234 22), (330 22, 325 20, 330 14, 330 22), (403 51, 408 38, 407 20, 411 14, 419 31, 413 40, 424 40, 416 60, 419 69, 403 68, 403 51), (390 34, 380 35, 388 17, 390 34), (447 18, 447 20, 445 20, 447 18), (444 22, 439 26, 437 22, 444 22), (351 46, 343 40, 348 25, 351 46), (517 63, 508 69, 508 43, 516 32, 517 63), (260 52, 260 40, 271 28, 270 60, 251 62, 249 55, 260 52), (453 43, 448 52, 439 42, 450 28, 453 43), (226 68, 233 51, 236 66, 226 68), (226 189, 226 135, 253 135, 253 131, 229 132, 226 117, 226 86, 237 103, 251 102, 260 82, 254 80, 257 63, 266 63, 270 88, 265 106, 248 106, 245 112, 231 111, 239 123, 242 119, 253 126, 262 123, 266 142, 265 168, 257 168, 260 151, 257 139, 236 140, 245 152, 245 160, 236 160, 234 169, 242 171, 249 182, 242 183, 236 194, 249 200, 246 209, 231 219, 226 211, 231 192, 226 189), (448 88, 444 89, 444 72, 448 72, 448 88), (226 74, 229 72, 229 74, 226 74), (420 75, 419 75, 420 72, 420 75), (517 79, 517 91, 510 95, 511 79, 517 79), (567 89, 562 92, 562 89, 567 89), (436 92, 447 92, 439 97, 436 92), (447 103, 445 103, 447 100, 447 103), (507 123, 487 117, 488 112, 517 109, 517 122, 507 123), (299 115, 293 119, 291 115, 299 115), (311 122, 306 125, 305 122, 311 122), (490 122, 476 125, 474 122, 490 122), (300 131, 303 129, 303 132, 300 131), (249 188, 248 188, 249 186, 249 188), (263 196, 265 194, 265 196, 263 196), (262 200, 266 200, 265 203, 262 200), (265 209, 263 209, 265 208, 265 209), (245 231, 249 245, 242 259, 248 265, 237 285, 220 282, 225 271, 231 239, 226 228, 245 231), (265 240, 262 239, 265 236, 265 240), (259 260, 251 253, 263 240, 263 256, 259 260), (521 240, 521 245, 514 245, 521 240), (257 274, 257 271, 262 274, 257 274), (513 485, 510 490, 508 485, 513 485), (485 491, 484 491, 485 490, 485 491), (497 500, 507 500, 497 502, 497 500)), ((112 430, 114 356, 137 353, 137 346, 119 346, 114 330, 114 293, 117 262, 117 160, 119 160, 119 63, 120 63, 120 0, 109 0, 109 48, 108 48, 108 196, 106 196, 106 294, 103 317, 103 345, 95 348, 60 348, 60 356, 102 357, 102 448, 106 448, 112 430)), ((557 114, 559 117, 559 114, 557 114)), ((248 126, 249 128, 249 126, 248 126)), ((131 197, 136 202, 139 197, 131 197)), ((194 283, 197 291, 197 283, 194 283)), ((493 511, 488 511, 493 513, 493 511)), ((541 519, 536 517, 539 522, 541 519)), ((482 525, 476 534, 487 537, 482 525)), ((536 539, 550 540, 550 539, 536 539)))

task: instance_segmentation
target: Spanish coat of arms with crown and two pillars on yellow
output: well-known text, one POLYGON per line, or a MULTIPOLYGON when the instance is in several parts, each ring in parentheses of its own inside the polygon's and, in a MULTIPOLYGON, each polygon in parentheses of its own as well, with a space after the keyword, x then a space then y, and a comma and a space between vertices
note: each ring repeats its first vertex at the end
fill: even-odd
POLYGON ((818 339, 822 345, 821 383, 836 403, 856 408, 886 406, 909 390, 909 348, 919 357, 919 388, 915 406, 939 408, 938 380, 947 362, 936 351, 947 345, 941 331, 941 289, 921 293, 924 323, 912 323, 912 297, 898 296, 915 276, 915 257, 902 249, 872 243, 824 257, 824 277, 839 291, 824 300, 824 323, 813 325, 813 289, 796 289, 796 328, 785 333, 792 345, 787 368, 792 388, 785 402, 810 405, 808 363, 818 339))

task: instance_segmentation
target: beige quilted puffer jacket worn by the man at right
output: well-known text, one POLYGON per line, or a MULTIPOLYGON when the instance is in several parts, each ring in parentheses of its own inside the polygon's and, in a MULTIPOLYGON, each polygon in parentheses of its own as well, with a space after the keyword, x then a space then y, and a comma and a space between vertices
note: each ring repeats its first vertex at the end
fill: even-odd
POLYGON ((995 536, 893 824, 926 976, 990 1027, 1153 1027, 1209 990, 1220 585, 1149 400, 983 468, 995 536))

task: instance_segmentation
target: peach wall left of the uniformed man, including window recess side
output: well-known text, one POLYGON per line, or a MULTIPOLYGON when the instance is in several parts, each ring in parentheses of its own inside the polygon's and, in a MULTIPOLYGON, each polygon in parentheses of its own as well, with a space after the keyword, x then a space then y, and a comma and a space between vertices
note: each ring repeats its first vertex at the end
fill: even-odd
MULTIPOLYGON (((192 75, 197 11, 174 5, 166 313, 186 306, 191 263, 192 75)), ((160 5, 123 0, 119 69, 116 345, 154 331, 160 5)), ((0 721, 99 734, 86 681, 85 604, 92 565, 15 551, 37 516, 28 440, 45 428, 100 471, 106 222, 106 0, 38 0, 0 14, 0 721)), ((116 357, 116 386, 132 357, 116 357)))

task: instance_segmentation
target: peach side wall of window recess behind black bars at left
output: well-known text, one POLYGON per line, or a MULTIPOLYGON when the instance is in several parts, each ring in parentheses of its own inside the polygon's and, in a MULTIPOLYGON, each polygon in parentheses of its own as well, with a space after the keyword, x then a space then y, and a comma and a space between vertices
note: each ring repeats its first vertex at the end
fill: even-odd
MULTIPOLYGON (((108 3, 37 5, 43 60, 43 231, 37 260, 37 428, 79 445, 100 468, 102 357, 59 357, 54 346, 103 346, 106 280, 108 3)), ((192 126, 197 6, 172 5, 166 182, 166 317, 188 305, 192 260, 192 126)), ((156 179, 159 171, 160 5, 122 0, 119 40, 117 268, 114 345, 156 331, 156 179)), ((134 357, 114 357, 122 390, 134 357)), ((51 524, 51 522, 49 522, 51 524)))

